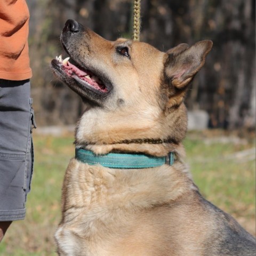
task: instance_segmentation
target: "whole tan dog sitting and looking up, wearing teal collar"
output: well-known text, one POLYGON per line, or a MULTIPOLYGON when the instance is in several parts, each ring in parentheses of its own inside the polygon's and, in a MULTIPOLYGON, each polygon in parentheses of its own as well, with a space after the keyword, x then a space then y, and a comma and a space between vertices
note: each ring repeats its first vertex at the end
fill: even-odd
POLYGON ((212 42, 161 52, 68 20, 61 43, 72 60, 57 57, 51 68, 86 109, 63 181, 58 254, 255 255, 254 237, 202 197, 183 160, 183 100, 212 42))

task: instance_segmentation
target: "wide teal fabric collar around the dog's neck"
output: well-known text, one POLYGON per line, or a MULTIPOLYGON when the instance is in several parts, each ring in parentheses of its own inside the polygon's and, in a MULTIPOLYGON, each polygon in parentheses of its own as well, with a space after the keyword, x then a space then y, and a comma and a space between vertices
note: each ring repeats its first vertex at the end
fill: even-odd
POLYGON ((95 155, 92 151, 76 148, 76 159, 90 165, 100 164, 109 168, 118 169, 142 169, 161 166, 163 164, 173 165, 174 153, 168 156, 156 157, 145 154, 121 154, 108 153, 106 155, 95 155))

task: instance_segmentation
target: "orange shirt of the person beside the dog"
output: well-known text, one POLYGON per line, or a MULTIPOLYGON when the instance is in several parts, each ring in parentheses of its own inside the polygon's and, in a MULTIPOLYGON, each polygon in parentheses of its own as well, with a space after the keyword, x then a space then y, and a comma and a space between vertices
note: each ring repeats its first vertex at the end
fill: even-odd
POLYGON ((28 55, 29 10, 25 0, 0 0, 0 78, 31 78, 28 55))

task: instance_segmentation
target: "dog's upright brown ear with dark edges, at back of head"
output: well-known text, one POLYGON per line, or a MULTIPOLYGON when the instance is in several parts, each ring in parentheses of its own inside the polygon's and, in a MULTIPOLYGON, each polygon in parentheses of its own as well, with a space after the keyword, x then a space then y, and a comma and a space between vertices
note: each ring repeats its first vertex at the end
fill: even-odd
POLYGON ((180 44, 166 53, 164 74, 167 81, 177 89, 182 89, 193 79, 195 74, 203 67, 207 53, 212 49, 212 41, 197 42, 188 47, 180 44))

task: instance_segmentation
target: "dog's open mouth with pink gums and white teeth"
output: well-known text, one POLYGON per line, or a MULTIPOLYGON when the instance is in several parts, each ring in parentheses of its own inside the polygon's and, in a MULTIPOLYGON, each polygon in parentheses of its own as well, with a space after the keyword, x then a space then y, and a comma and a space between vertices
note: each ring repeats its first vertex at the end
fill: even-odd
POLYGON ((75 65, 70 63, 69 59, 70 58, 68 57, 68 58, 62 60, 62 55, 60 55, 59 57, 55 58, 54 62, 55 62, 55 64, 60 66, 60 68, 65 72, 65 74, 68 77, 74 78, 78 83, 80 83, 86 87, 89 87, 89 89, 97 90, 101 93, 108 92, 107 87, 105 86, 105 84, 101 81, 101 79, 98 76, 96 76, 89 70, 85 70, 84 68, 82 68, 81 66, 79 66, 76 63, 75 63, 75 65), (58 63, 56 63, 56 62, 58 62, 58 63))

